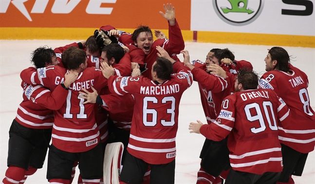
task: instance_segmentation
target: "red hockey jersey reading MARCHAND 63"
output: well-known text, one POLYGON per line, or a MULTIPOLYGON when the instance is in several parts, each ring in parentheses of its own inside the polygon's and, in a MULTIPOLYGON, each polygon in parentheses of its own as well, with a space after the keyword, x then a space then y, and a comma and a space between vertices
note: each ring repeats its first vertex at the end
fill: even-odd
POLYGON ((192 83, 192 75, 180 62, 174 63, 173 69, 184 70, 163 84, 145 77, 109 78, 111 92, 134 96, 128 151, 149 164, 166 164, 175 159, 179 102, 192 83))

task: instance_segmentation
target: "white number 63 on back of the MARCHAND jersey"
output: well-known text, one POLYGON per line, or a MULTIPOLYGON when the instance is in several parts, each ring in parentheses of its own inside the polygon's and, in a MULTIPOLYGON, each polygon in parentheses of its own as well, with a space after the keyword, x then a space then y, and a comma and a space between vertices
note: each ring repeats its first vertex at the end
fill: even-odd
MULTIPOLYGON (((164 97, 162 99, 162 104, 171 102, 171 108, 167 109, 167 114, 170 114, 170 121, 161 119, 161 124, 163 126, 173 126, 175 124, 175 98, 174 97, 164 97)), ((158 103, 158 99, 155 97, 145 97, 143 99, 143 124, 148 127, 153 127, 157 124, 158 112, 155 109, 148 109, 148 102, 158 103), (148 121, 148 115, 151 114, 152 121, 148 121)))

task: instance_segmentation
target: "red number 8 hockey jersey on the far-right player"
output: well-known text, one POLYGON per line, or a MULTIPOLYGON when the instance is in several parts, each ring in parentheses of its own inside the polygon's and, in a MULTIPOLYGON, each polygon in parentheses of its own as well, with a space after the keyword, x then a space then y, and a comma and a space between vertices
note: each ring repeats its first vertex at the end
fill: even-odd
POLYGON ((290 65, 292 74, 278 70, 264 73, 259 80, 262 88, 273 89, 291 110, 291 121, 279 127, 281 143, 302 153, 314 150, 315 113, 308 95, 306 74, 290 65))

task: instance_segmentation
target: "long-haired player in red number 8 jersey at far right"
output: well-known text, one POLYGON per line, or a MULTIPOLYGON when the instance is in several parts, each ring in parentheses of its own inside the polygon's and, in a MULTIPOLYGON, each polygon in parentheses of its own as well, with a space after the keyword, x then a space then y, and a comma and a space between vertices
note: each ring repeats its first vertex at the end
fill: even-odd
POLYGON ((286 50, 271 48, 265 58, 267 72, 259 80, 259 86, 273 89, 292 114, 290 123, 279 127, 283 171, 277 184, 294 184, 291 175, 302 175, 307 155, 315 146, 315 113, 307 91, 308 78, 289 62, 286 50))

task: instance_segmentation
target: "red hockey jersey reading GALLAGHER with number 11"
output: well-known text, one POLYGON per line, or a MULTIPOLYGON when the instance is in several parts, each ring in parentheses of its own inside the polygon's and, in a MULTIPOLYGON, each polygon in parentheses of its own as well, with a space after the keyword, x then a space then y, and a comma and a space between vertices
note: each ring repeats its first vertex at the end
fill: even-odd
MULTIPOLYGON (((34 82, 54 89, 63 82, 66 70, 58 66, 38 68, 35 73, 25 69, 21 78, 27 83, 34 82)), ((77 80, 70 85, 66 103, 55 112, 52 132, 53 145, 63 151, 83 152, 93 149, 100 141, 95 123, 94 104, 83 104, 79 91, 85 88, 92 91, 93 86, 98 92, 107 85, 101 70, 88 67, 79 73, 77 80)))

